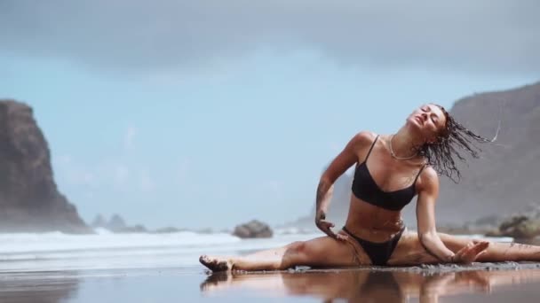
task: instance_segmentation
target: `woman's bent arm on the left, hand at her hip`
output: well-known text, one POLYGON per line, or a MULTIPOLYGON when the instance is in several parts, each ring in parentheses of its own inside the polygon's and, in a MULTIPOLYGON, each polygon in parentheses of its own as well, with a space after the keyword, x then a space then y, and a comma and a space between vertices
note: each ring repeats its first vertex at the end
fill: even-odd
POLYGON ((373 140, 372 136, 372 134, 365 131, 353 136, 351 141, 346 144, 345 149, 338 154, 338 157, 330 163, 330 166, 321 175, 319 186, 317 186, 315 224, 330 237, 336 237, 336 234, 330 230, 330 228, 334 227, 334 224, 325 221, 325 219, 332 198, 334 183, 340 175, 343 175, 349 167, 352 167, 358 161, 359 149, 364 144, 370 144, 373 140))

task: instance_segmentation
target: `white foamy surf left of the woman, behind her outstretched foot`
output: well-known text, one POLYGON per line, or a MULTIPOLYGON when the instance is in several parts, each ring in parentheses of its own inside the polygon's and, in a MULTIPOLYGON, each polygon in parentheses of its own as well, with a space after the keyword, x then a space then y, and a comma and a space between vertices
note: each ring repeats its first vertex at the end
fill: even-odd
POLYGON ((1 234, 0 272, 197 267, 201 254, 249 253, 320 236, 242 240, 226 233, 114 234, 105 229, 96 235, 1 234))

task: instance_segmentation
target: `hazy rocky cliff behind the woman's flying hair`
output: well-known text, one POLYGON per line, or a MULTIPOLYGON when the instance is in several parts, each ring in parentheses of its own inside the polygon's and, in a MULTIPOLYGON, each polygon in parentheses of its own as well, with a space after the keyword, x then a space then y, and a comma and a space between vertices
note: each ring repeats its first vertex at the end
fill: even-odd
MULTIPOLYGON (((504 217, 530 205, 540 204, 540 82, 518 89, 464 97, 450 113, 475 133, 492 137, 498 121, 501 129, 494 144, 478 144, 480 159, 460 165, 462 179, 453 183, 441 177, 437 202, 440 226, 455 226, 487 217, 504 217)), ((342 175, 335 184, 330 220, 345 221, 352 175, 342 175)), ((416 226, 415 203, 405 207, 407 224, 416 226)), ((292 223, 314 227, 314 209, 292 223)))

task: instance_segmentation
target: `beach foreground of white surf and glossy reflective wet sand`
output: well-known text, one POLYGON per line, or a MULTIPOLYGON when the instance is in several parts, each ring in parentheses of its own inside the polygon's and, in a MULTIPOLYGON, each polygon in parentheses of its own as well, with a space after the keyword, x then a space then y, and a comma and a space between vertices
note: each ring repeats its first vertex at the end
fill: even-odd
POLYGON ((211 274, 197 260, 314 236, 0 235, 0 302, 536 302, 540 292, 534 262, 211 274))

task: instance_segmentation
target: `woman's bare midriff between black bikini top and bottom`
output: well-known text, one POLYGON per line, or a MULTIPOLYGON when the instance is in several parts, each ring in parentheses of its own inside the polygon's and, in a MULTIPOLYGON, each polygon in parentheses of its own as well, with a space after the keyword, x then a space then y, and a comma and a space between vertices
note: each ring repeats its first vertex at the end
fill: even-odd
POLYGON ((353 196, 345 226, 356 237, 385 242, 400 232, 403 221, 401 212, 372 206, 353 196))

